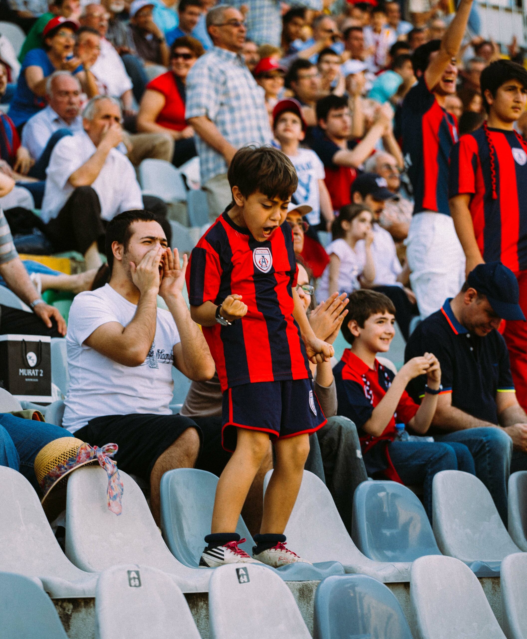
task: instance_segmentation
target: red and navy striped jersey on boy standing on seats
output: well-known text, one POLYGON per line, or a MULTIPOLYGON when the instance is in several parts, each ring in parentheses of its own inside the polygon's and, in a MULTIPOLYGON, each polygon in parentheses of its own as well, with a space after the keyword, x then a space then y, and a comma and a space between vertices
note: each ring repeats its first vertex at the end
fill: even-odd
POLYGON ((187 270, 190 304, 222 304, 227 295, 241 295, 248 308, 231 326, 203 327, 222 391, 259 381, 310 378, 293 319, 296 277, 288 224, 269 240, 257 242, 225 211, 192 250, 187 270))

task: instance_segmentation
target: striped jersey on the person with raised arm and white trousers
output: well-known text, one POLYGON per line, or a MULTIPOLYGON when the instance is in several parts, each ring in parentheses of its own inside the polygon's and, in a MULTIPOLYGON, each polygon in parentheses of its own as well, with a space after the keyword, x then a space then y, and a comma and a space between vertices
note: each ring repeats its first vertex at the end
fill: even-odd
POLYGON ((413 212, 450 215, 448 157, 457 142, 457 121, 439 106, 424 76, 402 102, 401 131, 404 163, 413 186, 413 212))

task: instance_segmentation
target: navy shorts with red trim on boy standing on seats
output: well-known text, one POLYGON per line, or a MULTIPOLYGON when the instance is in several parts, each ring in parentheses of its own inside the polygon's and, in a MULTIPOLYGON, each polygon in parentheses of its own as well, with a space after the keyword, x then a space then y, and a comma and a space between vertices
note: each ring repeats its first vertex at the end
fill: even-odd
POLYGON ((223 394, 225 450, 236 449, 236 428, 269 433, 277 440, 314 433, 325 423, 311 380, 259 381, 223 394))

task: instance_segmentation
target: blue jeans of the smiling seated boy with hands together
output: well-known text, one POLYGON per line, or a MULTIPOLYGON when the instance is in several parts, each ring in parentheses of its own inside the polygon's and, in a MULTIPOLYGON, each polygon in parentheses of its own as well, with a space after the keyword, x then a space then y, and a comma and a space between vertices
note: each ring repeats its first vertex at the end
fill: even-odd
POLYGON ((432 523, 432 479, 441 470, 462 470, 475 475, 470 450, 460 443, 391 442, 388 452, 401 481, 423 484, 424 506, 432 523))

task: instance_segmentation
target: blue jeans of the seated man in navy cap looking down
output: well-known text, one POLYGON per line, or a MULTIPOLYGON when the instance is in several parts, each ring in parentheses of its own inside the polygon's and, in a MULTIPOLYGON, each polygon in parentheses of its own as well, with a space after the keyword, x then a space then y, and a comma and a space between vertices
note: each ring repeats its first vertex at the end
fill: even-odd
POLYGON ((494 500, 501 520, 507 527, 507 482, 512 457, 512 440, 499 428, 467 428, 463 431, 434 435, 437 442, 464 443, 470 450, 480 479, 494 500))

